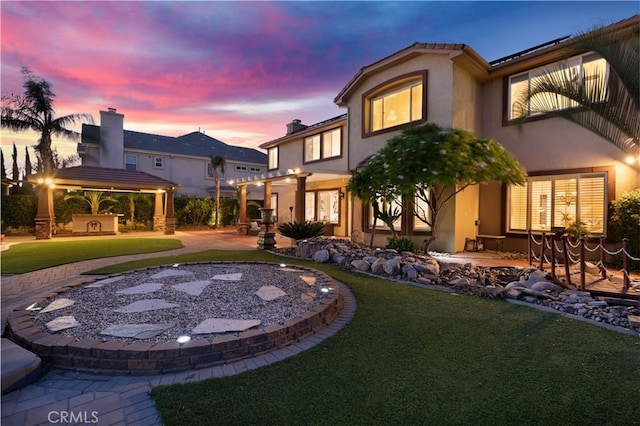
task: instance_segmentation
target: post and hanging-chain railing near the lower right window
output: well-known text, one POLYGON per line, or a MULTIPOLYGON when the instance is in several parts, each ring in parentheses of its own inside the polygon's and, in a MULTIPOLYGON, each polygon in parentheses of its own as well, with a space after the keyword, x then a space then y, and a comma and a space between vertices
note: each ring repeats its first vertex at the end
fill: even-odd
POLYGON ((604 244, 604 237, 600 237, 600 241, 597 246, 589 247, 587 245, 585 237, 580 237, 577 242, 569 240, 565 233, 542 233, 541 239, 536 240, 531 231, 528 232, 528 252, 529 252, 529 265, 533 266, 537 264, 538 269, 544 271, 545 264, 550 265, 551 276, 556 278, 556 266, 558 257, 562 257, 564 261, 565 280, 567 285, 571 285, 571 265, 578 265, 580 271, 580 289, 584 291, 586 285, 586 257, 587 252, 599 253, 599 260, 596 266, 600 270, 600 278, 606 279, 608 270, 605 264, 607 255, 609 256, 622 256, 622 269, 623 275, 623 288, 622 292, 626 293, 631 285, 631 277, 629 275, 629 262, 639 261, 640 258, 633 257, 629 254, 629 240, 624 238, 622 240, 622 247, 616 251, 609 251, 604 244), (537 253, 536 253, 537 252, 537 253), (549 257, 547 256, 549 253, 549 257))

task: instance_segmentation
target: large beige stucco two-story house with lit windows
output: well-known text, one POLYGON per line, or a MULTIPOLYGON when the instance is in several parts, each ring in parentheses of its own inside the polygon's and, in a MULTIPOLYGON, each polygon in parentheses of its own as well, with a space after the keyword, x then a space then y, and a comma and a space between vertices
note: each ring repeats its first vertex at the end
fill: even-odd
MULTIPOLYGON (((639 22, 634 16, 609 28, 622 32, 639 22)), ((370 207, 345 196, 351 174, 403 128, 431 121, 497 140, 528 173, 525 187, 494 183, 459 193, 440 217, 433 249, 462 251, 465 238, 490 234, 507 236, 506 250, 523 251, 528 230, 549 232, 574 220, 592 234, 606 234, 608 205, 638 187, 640 159, 629 164, 612 143, 561 118, 531 117, 521 127, 514 120, 515 111, 526 109, 515 103, 517 92, 558 61, 566 43, 571 39, 492 63, 464 44, 415 43, 355 74, 335 98, 348 114, 312 126, 295 120, 287 135, 262 144, 269 173, 239 184, 267 185, 266 193, 277 194, 270 199, 277 201, 281 221, 326 221, 334 225, 333 235, 368 241, 370 207)), ((608 72, 590 52, 571 62, 579 75, 587 67, 608 72)), ((397 225, 418 247, 430 233, 409 214, 397 225)), ((378 230, 376 244, 389 236, 378 230)))

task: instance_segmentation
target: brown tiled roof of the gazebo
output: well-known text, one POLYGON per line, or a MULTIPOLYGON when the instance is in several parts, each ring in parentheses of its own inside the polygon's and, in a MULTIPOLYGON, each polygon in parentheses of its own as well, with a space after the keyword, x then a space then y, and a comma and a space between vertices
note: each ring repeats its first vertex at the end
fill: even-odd
MULTIPOLYGON (((45 176, 36 173, 29 182, 41 183, 45 176)), ((102 189, 105 191, 144 191, 176 189, 180 185, 138 170, 77 166, 58 169, 51 176, 51 184, 59 188, 102 189)))

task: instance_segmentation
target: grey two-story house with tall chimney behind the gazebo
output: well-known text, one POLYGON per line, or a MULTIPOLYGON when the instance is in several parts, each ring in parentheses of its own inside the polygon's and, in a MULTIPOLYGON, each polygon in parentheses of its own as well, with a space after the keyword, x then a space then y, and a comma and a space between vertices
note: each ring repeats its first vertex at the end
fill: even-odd
MULTIPOLYGON (((211 157, 226 160, 220 175, 221 197, 236 197, 235 181, 264 173, 267 157, 253 149, 227 145, 201 132, 171 137, 124 130, 124 115, 100 111, 100 126, 83 124, 78 154, 85 166, 139 170, 181 185, 178 195, 215 196, 211 157)), ((262 200, 263 190, 251 186, 247 197, 262 200)))

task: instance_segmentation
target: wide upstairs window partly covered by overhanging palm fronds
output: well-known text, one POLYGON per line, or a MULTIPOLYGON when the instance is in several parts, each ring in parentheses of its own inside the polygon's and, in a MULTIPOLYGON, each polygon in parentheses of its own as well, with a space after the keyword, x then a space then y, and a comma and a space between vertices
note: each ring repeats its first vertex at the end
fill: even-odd
MULTIPOLYGON (((532 84, 542 76, 557 76, 562 80, 569 77, 576 83, 584 85, 585 89, 590 90, 595 88, 596 85, 606 87, 608 66, 603 58, 591 53, 509 77, 509 120, 541 114, 536 110, 544 109, 548 111, 577 106, 575 102, 568 98, 547 93, 539 93, 527 101, 526 96, 532 84)), ((606 91, 602 91, 600 96, 602 97, 601 100, 604 101, 606 91)))

